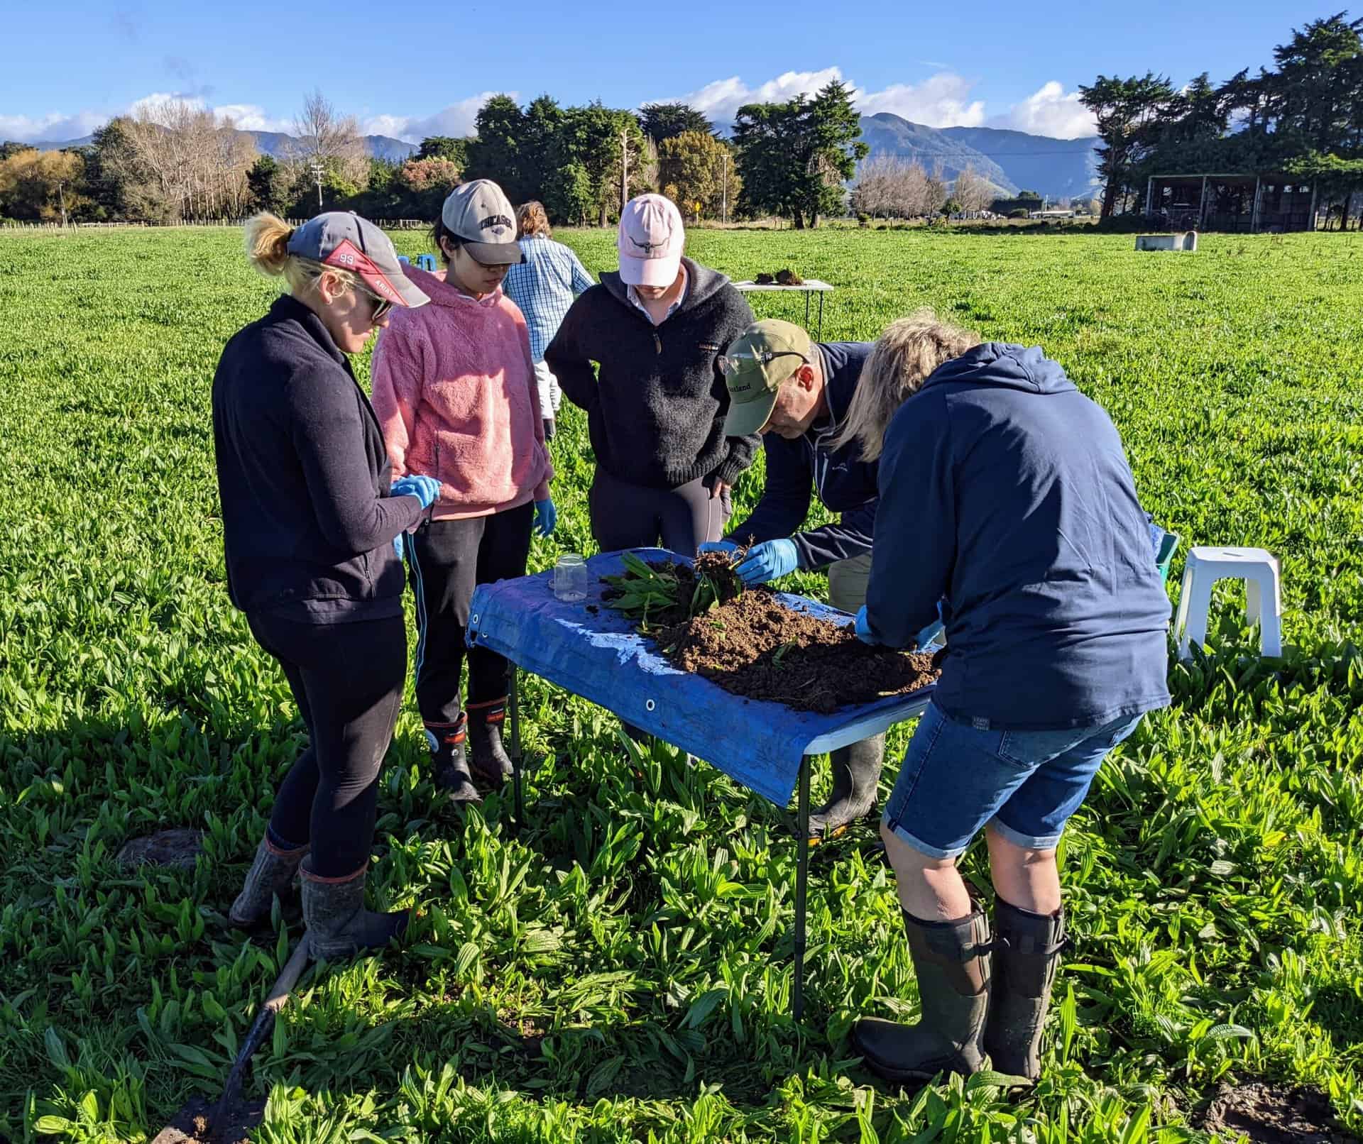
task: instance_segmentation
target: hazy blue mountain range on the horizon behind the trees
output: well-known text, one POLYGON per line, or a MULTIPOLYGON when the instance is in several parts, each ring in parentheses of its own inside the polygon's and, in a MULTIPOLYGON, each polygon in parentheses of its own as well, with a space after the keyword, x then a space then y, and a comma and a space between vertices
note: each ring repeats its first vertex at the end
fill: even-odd
MULTIPOLYGON (((293 136, 278 131, 249 131, 263 154, 281 158, 294 142, 293 136)), ((955 178, 962 170, 973 169, 1003 195, 1036 191, 1048 199, 1081 197, 1097 185, 1096 138, 1052 139, 1048 135, 1028 135, 1022 131, 1000 131, 992 127, 924 127, 900 116, 880 112, 861 117, 861 140, 871 148, 871 157, 894 155, 917 159, 930 172, 940 169, 946 178, 955 178)), ((61 147, 83 147, 90 136, 68 139, 64 143, 34 143, 44 151, 61 147)), ((416 154, 413 143, 403 143, 390 135, 365 135, 365 150, 376 159, 402 162, 416 154)))

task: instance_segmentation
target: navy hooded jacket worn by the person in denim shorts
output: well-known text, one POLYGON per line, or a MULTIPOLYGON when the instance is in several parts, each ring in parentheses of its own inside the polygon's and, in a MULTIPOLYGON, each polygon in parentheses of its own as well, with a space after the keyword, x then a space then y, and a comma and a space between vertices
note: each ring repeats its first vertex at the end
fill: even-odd
POLYGON ((999 730, 1100 726, 1169 701, 1169 601, 1116 429, 1040 347, 935 370, 880 456, 867 621, 910 647, 945 598, 935 703, 999 730))

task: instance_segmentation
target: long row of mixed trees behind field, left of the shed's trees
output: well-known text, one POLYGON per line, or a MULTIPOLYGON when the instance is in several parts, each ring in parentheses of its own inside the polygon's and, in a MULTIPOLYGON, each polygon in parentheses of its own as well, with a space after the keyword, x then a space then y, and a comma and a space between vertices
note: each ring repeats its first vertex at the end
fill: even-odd
MULTIPOLYGON (((431 136, 403 163, 372 159, 354 117, 313 93, 282 155, 184 101, 164 99, 110 120, 87 147, 0 148, 0 214, 18 219, 172 222, 288 217, 349 208, 375 218, 433 218, 461 180, 493 178, 512 199, 540 199, 566 223, 605 225, 632 195, 658 189, 688 221, 780 215, 816 226, 846 207, 846 184, 867 154, 852 90, 750 104, 732 139, 684 104, 638 113, 600 102, 562 106, 508 95, 478 110, 476 133, 431 136)), ((992 188, 972 172, 954 188, 897 159, 866 163, 856 208, 876 215, 983 210, 992 188)))

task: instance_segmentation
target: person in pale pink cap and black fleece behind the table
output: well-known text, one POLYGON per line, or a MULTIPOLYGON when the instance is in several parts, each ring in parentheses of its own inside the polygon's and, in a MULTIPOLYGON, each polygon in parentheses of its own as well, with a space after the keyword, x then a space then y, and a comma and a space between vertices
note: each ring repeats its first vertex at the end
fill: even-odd
POLYGON ((604 552, 661 541, 691 556, 717 541, 729 486, 756 454, 755 436, 724 434, 729 392, 716 365, 752 311, 728 278, 682 256, 684 241, 669 199, 626 203, 619 272, 578 297, 544 354, 587 413, 587 505, 604 552))

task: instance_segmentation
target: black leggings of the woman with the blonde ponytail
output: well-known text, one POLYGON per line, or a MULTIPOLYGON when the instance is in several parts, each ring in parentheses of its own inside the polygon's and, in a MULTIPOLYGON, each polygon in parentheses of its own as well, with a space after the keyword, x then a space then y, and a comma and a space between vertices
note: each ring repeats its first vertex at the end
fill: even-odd
POLYGON ((393 740, 408 667, 401 616, 308 624, 251 616, 251 633, 284 667, 308 725, 308 748, 279 786, 270 832, 281 846, 312 846, 324 878, 353 874, 373 844, 379 768, 393 740))

